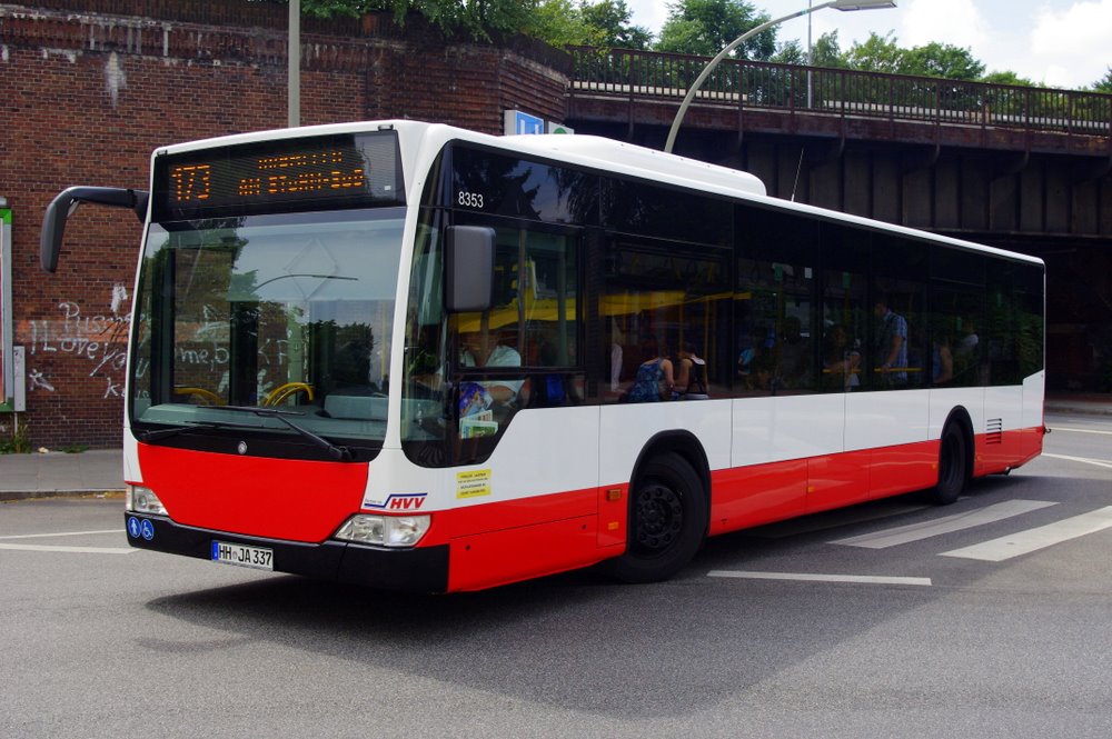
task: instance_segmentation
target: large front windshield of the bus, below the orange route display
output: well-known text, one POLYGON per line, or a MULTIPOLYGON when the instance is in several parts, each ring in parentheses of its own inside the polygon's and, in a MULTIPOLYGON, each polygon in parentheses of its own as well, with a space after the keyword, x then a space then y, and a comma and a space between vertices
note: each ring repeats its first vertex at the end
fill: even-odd
POLYGON ((404 217, 380 208, 152 223, 136 297, 137 433, 232 428, 297 442, 308 430, 380 447, 404 217))

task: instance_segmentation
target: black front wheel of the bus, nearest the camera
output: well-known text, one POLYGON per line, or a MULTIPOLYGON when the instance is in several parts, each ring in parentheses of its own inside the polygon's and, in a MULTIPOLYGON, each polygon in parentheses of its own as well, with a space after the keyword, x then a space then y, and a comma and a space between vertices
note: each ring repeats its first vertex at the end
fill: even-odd
POLYGON ((657 582, 684 568, 706 535, 706 493, 675 452, 648 461, 629 495, 626 552, 607 562, 623 582, 657 582))

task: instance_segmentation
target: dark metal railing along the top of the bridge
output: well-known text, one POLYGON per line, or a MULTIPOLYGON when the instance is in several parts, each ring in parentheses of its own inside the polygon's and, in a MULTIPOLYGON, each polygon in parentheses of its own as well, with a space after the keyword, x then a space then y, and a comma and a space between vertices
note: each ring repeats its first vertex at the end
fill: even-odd
MULTIPOLYGON (((569 47, 573 96, 675 100, 706 57, 569 47)), ((1112 94, 965 82, 932 77, 726 60, 694 104, 784 110, 1108 137, 1112 94)))

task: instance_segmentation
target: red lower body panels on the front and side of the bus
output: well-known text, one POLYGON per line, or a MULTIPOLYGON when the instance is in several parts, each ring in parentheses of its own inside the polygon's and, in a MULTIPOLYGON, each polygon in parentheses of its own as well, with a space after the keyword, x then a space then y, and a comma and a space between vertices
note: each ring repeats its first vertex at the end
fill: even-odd
MULTIPOLYGON (((1042 428, 974 439, 974 475, 1019 467, 1042 449, 1042 428)), ((866 449, 712 472, 708 533, 930 488, 939 441, 866 449)), ((321 541, 360 509, 367 466, 234 457, 139 446, 145 483, 179 523, 291 541, 321 541), (182 468, 218 480, 198 487, 182 468), (276 485, 280 481, 280 485, 276 485)), ((449 590, 562 572, 620 555, 628 483, 430 511, 420 546, 448 545, 449 590)))

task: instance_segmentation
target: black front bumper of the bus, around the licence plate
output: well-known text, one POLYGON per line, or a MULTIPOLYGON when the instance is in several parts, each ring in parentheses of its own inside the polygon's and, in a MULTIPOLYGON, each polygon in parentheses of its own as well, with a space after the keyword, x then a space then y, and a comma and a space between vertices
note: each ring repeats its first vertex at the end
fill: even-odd
POLYGON ((255 567, 260 570, 410 592, 445 592, 448 587, 447 545, 389 549, 332 540, 302 543, 198 529, 130 511, 123 519, 128 543, 139 549, 215 561, 220 545, 238 546, 271 552, 255 567))

